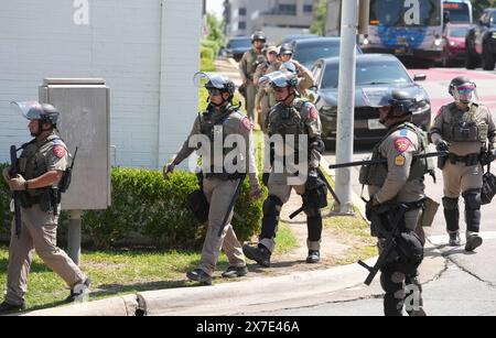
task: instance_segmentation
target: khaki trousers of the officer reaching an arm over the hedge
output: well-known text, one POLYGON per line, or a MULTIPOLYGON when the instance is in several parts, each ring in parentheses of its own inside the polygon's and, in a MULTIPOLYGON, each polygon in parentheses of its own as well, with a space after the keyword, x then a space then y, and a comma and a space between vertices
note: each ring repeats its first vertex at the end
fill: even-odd
POLYGON ((203 192, 211 204, 211 210, 208 212, 208 229, 203 244, 200 269, 209 275, 213 275, 215 271, 220 249, 226 252, 229 265, 236 268, 246 266, 242 247, 230 225, 234 212, 229 215, 223 236, 217 236, 238 182, 239 179, 222 181, 218 178, 205 178, 203 182, 203 192))

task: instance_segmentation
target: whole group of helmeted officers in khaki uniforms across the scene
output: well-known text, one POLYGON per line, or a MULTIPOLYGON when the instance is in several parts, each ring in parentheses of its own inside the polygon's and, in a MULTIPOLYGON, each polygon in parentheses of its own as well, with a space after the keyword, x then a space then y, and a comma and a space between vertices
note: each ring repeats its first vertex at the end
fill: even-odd
MULTIPOLYGON (((206 135, 211 141, 216 135, 224 140, 237 135, 242 141, 240 144, 245 144, 244 148, 225 149, 220 154, 202 153, 203 174, 195 205, 203 206, 202 210, 196 211, 204 215, 208 229, 201 262, 186 274, 190 280, 202 284, 212 284, 222 250, 229 261, 223 277, 246 275, 246 258, 262 266, 270 266, 281 208, 289 200, 292 189, 301 196, 306 215, 306 262, 317 263, 321 259, 321 210, 327 206, 327 192, 319 170, 325 151, 322 124, 315 106, 305 98, 305 90, 313 86, 313 78, 309 69, 292 59, 290 45, 278 50, 266 46, 266 40, 262 32, 255 33, 254 47, 244 55, 239 65, 248 116, 233 103, 236 90, 233 80, 219 74, 198 73, 208 90, 208 107, 198 115, 184 144, 163 168, 164 178, 169 179, 176 165, 198 151, 198 146, 192 145, 196 143, 191 142, 198 134, 206 135), (273 144, 268 145, 270 151, 266 153, 270 154, 270 159, 266 161, 269 161, 270 170, 263 172, 262 183, 269 194, 263 201, 261 232, 256 246, 241 246, 230 225, 234 210, 228 209, 228 206, 246 176, 249 178, 251 198, 259 199, 262 196, 252 141, 252 129, 257 122, 269 137, 304 135, 308 139, 305 159, 299 159, 304 163, 306 173, 299 183, 290 179, 301 174, 287 166, 289 153, 294 154, 300 148, 298 140, 285 148, 282 155, 277 153, 273 144), (241 165, 236 172, 227 171, 224 166, 225 157, 233 150, 239 152, 236 159, 239 160, 237 165, 241 165), (278 161, 282 163, 283 171, 276 170, 281 164, 278 161)), ((431 160, 420 160, 419 155, 429 152, 429 141, 435 144, 438 151, 449 153, 448 157, 440 161, 449 243, 461 244, 459 198, 463 196, 467 225, 465 250, 474 251, 482 244, 478 232, 483 165, 494 160, 492 150, 496 142, 496 127, 488 109, 477 102, 475 84, 468 78, 453 79, 449 91, 453 102, 441 108, 428 135, 412 123, 416 98, 409 92, 395 90, 379 109, 380 122, 388 132, 373 151, 373 159, 386 159, 387 164, 364 166, 360 171, 360 183, 369 192, 367 217, 371 220, 373 236, 378 237, 379 251, 384 250, 388 233, 392 233, 391 227, 400 229, 396 235, 396 250, 380 269, 386 315, 401 315, 403 309, 410 315, 424 315, 421 297, 417 307, 407 307, 405 299, 414 292, 421 294, 418 268, 423 259, 424 238, 418 236, 418 230, 427 208, 424 176, 433 173, 434 165, 431 160), (405 216, 396 219, 399 206, 403 208, 405 216)), ((20 237, 15 236, 12 226, 8 292, 0 305, 0 313, 24 308, 33 250, 72 288, 68 301, 80 296, 89 286, 89 279, 55 243, 61 199, 52 199, 45 207, 40 196, 43 189, 57 186, 67 167, 67 146, 56 130, 58 111, 50 105, 39 103, 23 108, 34 139, 22 146, 23 168, 19 175, 11 177, 9 170, 3 172, 10 188, 22 192, 25 200, 22 205, 23 231, 20 237)))

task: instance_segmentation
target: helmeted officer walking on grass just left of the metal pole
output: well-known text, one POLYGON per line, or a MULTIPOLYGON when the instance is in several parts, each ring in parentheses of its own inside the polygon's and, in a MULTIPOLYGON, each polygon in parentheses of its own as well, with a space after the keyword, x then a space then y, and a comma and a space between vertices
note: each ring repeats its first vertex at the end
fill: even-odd
MULTIPOLYGON (((293 144, 285 144, 290 153, 294 153, 300 149, 299 137, 308 137, 305 146, 305 155, 308 159, 299 159, 300 163, 305 165, 308 175, 300 184, 290 182, 291 176, 295 176, 294 171, 289 167, 288 156, 284 153, 282 161, 276 159, 277 144, 270 144, 271 150, 271 172, 263 173, 265 184, 269 187, 269 197, 263 203, 262 229, 259 236, 257 247, 245 246, 245 255, 262 266, 270 266, 270 257, 276 248, 276 233, 279 222, 279 216, 283 204, 285 204, 291 195, 291 190, 302 196, 304 211, 308 216, 308 263, 317 263, 320 261, 320 244, 322 235, 322 214, 321 208, 327 205, 326 187, 320 179, 317 167, 321 155, 324 152, 324 143, 321 139, 322 126, 316 108, 309 101, 299 99, 296 86, 298 78, 295 74, 290 72, 276 72, 267 75, 261 83, 269 83, 274 90, 278 103, 272 107, 268 119, 267 130, 269 137, 280 135, 282 140, 288 142, 288 137, 293 137, 293 144), (276 161, 278 160, 278 161, 276 161), (276 163, 274 163, 276 162, 276 163), (283 163, 278 171, 278 163, 283 163)), ((266 146, 269 146, 266 144, 266 146)))

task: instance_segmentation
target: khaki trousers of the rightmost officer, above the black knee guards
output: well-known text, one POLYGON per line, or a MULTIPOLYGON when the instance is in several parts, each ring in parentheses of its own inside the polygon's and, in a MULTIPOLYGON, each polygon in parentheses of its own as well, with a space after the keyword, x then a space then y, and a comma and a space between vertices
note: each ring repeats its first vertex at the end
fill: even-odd
POLYGON ((481 164, 466 166, 464 163, 455 164, 446 161, 443 167, 444 196, 459 198, 460 194, 471 189, 481 189, 484 170, 481 164))

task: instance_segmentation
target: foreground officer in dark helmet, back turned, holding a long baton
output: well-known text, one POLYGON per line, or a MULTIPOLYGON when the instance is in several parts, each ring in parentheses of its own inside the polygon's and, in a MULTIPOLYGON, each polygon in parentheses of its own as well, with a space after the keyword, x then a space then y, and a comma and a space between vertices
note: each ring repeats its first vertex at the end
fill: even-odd
MULTIPOLYGON (((387 159, 388 163, 363 166, 359 177, 360 183, 368 186, 370 195, 367 209, 396 203, 408 206, 400 223, 401 238, 408 240, 397 242, 398 246, 407 244, 407 248, 399 252, 417 252, 417 255, 403 261, 388 259, 381 268, 380 281, 386 292, 384 309, 387 316, 402 315, 407 285, 413 285, 421 292, 417 268, 420 265, 421 255, 423 257, 423 243, 414 230, 421 220, 425 198, 424 175, 432 172, 434 165, 430 160, 413 159, 414 155, 425 153, 429 146, 428 135, 411 123, 414 109, 416 99, 408 92, 392 92, 389 106, 380 109, 380 122, 388 128, 388 133, 373 151, 373 159, 387 159)), ((379 238, 379 248, 384 240, 379 238)), ((422 306, 421 299, 419 306, 422 306)), ((421 307, 407 310, 410 315, 424 314, 421 307)))

